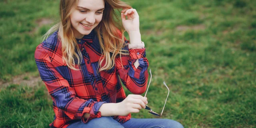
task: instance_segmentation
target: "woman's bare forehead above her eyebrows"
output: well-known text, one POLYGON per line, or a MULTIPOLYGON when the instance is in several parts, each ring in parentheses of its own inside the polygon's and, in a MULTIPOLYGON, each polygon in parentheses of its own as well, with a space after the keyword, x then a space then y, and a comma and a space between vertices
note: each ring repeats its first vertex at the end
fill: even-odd
POLYGON ((104 0, 78 0, 77 6, 96 11, 104 8, 105 2, 104 0))

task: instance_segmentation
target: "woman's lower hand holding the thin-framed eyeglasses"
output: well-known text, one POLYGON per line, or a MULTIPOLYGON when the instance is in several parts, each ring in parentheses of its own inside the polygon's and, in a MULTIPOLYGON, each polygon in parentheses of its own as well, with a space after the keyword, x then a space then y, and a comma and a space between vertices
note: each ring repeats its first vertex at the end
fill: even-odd
POLYGON ((129 94, 122 102, 118 104, 118 115, 127 116, 129 113, 138 113, 142 108, 146 108, 148 104, 147 98, 141 95, 129 94))

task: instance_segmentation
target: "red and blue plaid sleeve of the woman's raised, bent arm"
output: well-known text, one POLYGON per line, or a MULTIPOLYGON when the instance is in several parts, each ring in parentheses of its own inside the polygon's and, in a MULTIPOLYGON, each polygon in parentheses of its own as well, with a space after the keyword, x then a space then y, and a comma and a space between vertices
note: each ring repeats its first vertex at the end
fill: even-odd
MULTIPOLYGON (((129 43, 125 39, 125 43, 129 43)), ((142 94, 146 91, 148 82, 148 59, 146 58, 146 48, 128 49, 126 45, 124 50, 129 51, 129 55, 116 57, 116 68, 125 87, 134 94, 142 94), (135 68, 134 62, 138 59, 139 66, 135 68)))

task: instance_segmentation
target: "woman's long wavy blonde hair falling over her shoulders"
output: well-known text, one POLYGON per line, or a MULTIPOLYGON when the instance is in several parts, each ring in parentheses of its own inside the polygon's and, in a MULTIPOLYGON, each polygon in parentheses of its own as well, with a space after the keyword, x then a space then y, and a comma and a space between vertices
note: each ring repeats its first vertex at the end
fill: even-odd
MULTIPOLYGON (((120 0, 104 0, 104 2, 105 10, 102 20, 94 28, 100 42, 100 47, 102 48, 102 59, 100 60, 99 66, 102 65, 104 60, 106 61, 99 72, 113 68, 116 56, 120 55, 121 57, 122 54, 128 54, 126 50, 122 50, 125 45, 124 29, 114 9, 132 8, 120 0)), ((78 0, 60 0, 60 22, 52 26, 43 36, 47 41, 48 36, 58 30, 58 37, 62 42, 62 60, 73 70, 79 70, 75 68, 75 60, 77 60, 78 64, 82 62, 82 53, 79 50, 70 21, 70 14, 77 3, 78 0), (78 54, 75 51, 78 51, 78 54)))

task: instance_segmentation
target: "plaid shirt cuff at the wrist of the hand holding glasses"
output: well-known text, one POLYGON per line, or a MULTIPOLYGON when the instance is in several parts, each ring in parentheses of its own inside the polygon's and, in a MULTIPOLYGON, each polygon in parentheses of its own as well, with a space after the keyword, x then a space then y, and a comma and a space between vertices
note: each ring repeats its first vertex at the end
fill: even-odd
POLYGON ((82 118, 81 118, 82 122, 87 123, 88 121, 90 121, 93 118, 100 118, 101 113, 100 113, 99 109, 102 106, 102 104, 104 104, 104 103, 107 103, 107 102, 96 102, 92 106, 92 108, 85 107, 83 112, 82 112, 82 118), (84 118, 84 114, 86 114, 86 113, 90 114, 89 118, 87 118, 87 119, 84 118))

